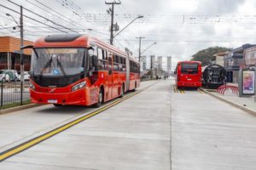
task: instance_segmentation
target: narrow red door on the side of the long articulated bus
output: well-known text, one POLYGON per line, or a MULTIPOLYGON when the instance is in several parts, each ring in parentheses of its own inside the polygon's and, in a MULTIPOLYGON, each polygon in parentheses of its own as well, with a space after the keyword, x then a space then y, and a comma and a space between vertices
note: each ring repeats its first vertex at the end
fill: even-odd
POLYGON ((108 78, 107 78, 108 94, 107 99, 113 98, 113 54, 108 53, 108 78))

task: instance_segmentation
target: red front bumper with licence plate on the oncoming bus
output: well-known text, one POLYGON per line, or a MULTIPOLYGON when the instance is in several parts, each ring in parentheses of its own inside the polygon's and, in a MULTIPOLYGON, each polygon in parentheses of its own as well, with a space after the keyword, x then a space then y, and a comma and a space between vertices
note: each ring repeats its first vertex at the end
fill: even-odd
POLYGON ((36 104, 92 105, 86 91, 87 89, 83 88, 70 93, 45 94, 30 89, 30 96, 32 103, 36 104))

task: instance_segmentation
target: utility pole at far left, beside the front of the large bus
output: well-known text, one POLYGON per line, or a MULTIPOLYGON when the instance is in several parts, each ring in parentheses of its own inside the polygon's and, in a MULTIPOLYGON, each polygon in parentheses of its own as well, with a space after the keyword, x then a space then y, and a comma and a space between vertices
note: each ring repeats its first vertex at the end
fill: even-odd
MULTIPOLYGON (((20 48, 23 47, 23 7, 20 6, 20 48)), ((20 49, 20 82, 24 83, 24 55, 20 49)))

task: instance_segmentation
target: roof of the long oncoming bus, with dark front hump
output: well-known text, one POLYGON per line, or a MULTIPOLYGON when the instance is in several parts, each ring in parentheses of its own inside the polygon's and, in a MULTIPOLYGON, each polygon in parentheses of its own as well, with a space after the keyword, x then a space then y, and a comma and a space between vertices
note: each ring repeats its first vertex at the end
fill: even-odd
MULTIPOLYGON (((83 34, 55 34, 47 37, 41 37, 34 42, 34 48, 90 48, 97 45, 103 49, 108 49, 114 54, 125 57, 127 54, 113 45, 103 42, 102 40, 83 34)), ((131 60, 137 62, 134 58, 131 60)))

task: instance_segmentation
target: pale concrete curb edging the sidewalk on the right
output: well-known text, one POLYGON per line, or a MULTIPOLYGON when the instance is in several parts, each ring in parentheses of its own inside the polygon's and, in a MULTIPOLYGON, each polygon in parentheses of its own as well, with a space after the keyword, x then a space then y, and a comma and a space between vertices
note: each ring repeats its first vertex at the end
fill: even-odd
POLYGON ((230 99, 225 99, 225 98, 220 97, 220 96, 218 96, 218 95, 216 95, 216 94, 212 94, 211 92, 208 92, 206 89, 203 89, 203 88, 200 88, 200 89, 201 89, 201 91, 205 92, 206 94, 211 95, 211 96, 214 97, 214 98, 217 98, 217 99, 219 99, 219 100, 222 100, 222 101, 224 101, 224 102, 227 103, 227 104, 233 105, 233 106, 235 106, 236 108, 241 109, 242 111, 246 111, 247 113, 250 113, 250 114, 252 114, 253 116, 256 116, 256 111, 253 111, 252 109, 247 108, 246 106, 237 104, 236 102, 233 102, 233 101, 231 101, 230 99))

